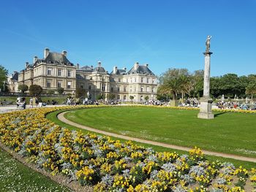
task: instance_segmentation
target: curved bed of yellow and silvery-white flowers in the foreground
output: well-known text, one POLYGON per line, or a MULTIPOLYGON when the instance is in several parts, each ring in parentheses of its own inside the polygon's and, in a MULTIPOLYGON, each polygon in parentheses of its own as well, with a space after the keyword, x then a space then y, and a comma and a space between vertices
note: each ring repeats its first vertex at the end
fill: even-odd
POLYGON ((252 191, 256 185, 255 169, 209 162, 197 147, 189 155, 157 153, 132 142, 69 131, 45 118, 72 108, 0 115, 1 143, 53 175, 94 185, 94 191, 252 191))

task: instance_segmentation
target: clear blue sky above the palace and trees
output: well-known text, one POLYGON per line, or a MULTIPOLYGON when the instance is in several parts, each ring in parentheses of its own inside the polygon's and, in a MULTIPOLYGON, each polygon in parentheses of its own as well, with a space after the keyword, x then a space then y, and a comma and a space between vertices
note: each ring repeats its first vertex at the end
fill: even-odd
POLYGON ((109 72, 136 61, 193 72, 211 34, 211 76, 256 74, 255 10, 256 0, 1 1, 0 64, 20 71, 48 47, 109 72))

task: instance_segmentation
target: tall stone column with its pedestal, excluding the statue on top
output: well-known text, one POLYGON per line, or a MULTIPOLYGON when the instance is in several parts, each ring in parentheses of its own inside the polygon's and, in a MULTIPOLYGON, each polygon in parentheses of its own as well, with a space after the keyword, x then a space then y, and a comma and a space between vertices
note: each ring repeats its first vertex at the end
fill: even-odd
POLYGON ((200 112, 197 118, 201 119, 213 119, 214 114, 211 112, 212 99, 210 97, 210 64, 211 64, 211 52, 206 51, 205 55, 205 71, 203 78, 203 97, 200 99, 200 112))

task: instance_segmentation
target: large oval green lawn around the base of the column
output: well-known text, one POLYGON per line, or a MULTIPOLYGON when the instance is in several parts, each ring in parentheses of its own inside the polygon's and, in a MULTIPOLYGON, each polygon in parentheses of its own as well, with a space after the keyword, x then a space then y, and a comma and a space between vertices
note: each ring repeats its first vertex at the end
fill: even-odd
POLYGON ((131 137, 204 150, 256 157, 256 114, 216 113, 197 118, 197 110, 106 107, 68 112, 77 123, 131 137))

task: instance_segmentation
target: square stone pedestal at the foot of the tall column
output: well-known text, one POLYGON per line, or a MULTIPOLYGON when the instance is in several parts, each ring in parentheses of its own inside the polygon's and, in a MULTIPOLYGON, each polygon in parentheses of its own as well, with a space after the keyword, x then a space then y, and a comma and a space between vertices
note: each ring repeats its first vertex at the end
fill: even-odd
POLYGON ((214 114, 211 112, 211 104, 213 100, 209 96, 203 96, 200 99, 200 112, 197 118, 214 119, 214 114))

